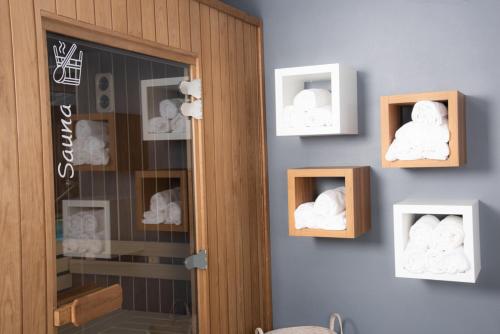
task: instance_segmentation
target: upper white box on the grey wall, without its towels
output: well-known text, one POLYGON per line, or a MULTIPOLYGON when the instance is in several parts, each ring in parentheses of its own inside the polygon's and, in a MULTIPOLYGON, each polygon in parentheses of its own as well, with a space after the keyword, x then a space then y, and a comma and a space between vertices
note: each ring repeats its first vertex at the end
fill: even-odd
POLYGON ((275 70, 276 135, 319 136, 358 133, 357 74, 341 64, 327 64, 275 70), (328 125, 291 121, 289 107, 303 89, 331 92, 331 122, 328 125))

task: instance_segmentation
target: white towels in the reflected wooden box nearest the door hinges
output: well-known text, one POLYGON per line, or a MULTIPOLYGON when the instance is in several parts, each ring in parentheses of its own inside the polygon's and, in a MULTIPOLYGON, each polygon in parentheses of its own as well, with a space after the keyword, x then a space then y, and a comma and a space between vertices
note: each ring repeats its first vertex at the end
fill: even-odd
POLYGON ((142 223, 181 225, 182 210, 179 198, 179 188, 155 193, 151 196, 149 210, 144 212, 142 223))

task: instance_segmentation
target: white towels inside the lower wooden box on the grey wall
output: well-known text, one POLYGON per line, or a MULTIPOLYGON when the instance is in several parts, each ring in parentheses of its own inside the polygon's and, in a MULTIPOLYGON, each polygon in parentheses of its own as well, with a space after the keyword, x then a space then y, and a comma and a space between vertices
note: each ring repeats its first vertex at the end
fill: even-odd
POLYGON ((297 229, 345 230, 345 188, 327 190, 315 202, 299 205, 294 217, 297 229))

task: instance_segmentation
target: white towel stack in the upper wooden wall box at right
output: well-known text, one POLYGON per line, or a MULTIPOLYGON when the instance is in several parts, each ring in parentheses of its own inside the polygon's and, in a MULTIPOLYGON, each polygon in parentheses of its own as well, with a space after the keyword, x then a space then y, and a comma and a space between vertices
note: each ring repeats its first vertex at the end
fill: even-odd
POLYGON ((450 131, 447 115, 446 106, 441 102, 417 102, 411 113, 412 121, 396 131, 395 139, 389 146, 385 159, 388 161, 448 159, 450 131))

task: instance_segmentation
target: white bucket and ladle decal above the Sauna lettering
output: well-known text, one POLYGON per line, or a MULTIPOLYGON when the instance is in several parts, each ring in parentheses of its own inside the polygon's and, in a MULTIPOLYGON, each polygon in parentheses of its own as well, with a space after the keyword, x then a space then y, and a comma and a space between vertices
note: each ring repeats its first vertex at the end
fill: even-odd
POLYGON ((52 46, 54 57, 56 58, 56 68, 52 73, 52 79, 58 84, 79 86, 82 74, 83 51, 74 57, 76 44, 73 43, 68 52, 66 52, 66 43, 59 41, 59 48, 52 46))

